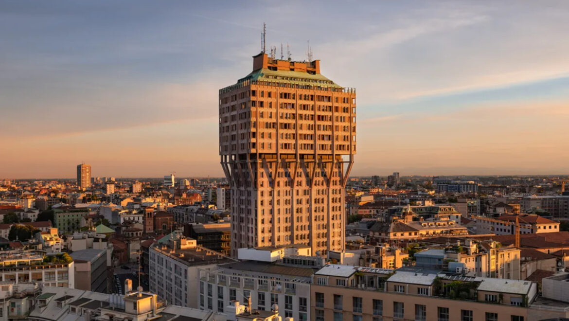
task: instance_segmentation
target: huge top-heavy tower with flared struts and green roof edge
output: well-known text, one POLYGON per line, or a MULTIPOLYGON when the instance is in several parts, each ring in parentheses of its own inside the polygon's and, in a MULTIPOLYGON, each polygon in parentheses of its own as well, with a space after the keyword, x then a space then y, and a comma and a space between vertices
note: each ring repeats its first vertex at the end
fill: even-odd
POLYGON ((320 61, 261 52, 253 72, 219 91, 221 166, 238 248, 305 244, 343 250, 344 187, 356 154, 356 90, 320 61))

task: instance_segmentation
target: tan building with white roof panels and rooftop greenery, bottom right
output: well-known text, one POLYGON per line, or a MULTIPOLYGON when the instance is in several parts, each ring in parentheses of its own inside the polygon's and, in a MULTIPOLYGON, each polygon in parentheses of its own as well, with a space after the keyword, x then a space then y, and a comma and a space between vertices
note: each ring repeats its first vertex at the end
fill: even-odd
POLYGON ((436 270, 327 265, 314 275, 314 320, 538 320, 537 284, 436 270), (537 310, 537 309, 536 309, 537 310))

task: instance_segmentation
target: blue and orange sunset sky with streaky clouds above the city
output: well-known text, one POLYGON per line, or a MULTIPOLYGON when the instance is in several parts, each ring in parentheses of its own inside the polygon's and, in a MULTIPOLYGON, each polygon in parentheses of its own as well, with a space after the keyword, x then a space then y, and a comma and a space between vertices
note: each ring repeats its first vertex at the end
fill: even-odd
POLYGON ((289 45, 357 90, 352 175, 569 173, 567 1, 0 2, 0 178, 222 176, 218 89, 289 45))

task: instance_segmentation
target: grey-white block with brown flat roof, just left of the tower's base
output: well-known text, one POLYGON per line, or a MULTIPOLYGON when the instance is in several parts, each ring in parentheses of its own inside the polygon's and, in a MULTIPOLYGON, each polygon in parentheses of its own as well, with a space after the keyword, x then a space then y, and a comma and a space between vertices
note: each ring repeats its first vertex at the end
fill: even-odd
POLYGON ((199 268, 234 262, 222 253, 197 245, 196 240, 173 232, 149 248, 150 291, 168 302, 197 308, 199 268))

